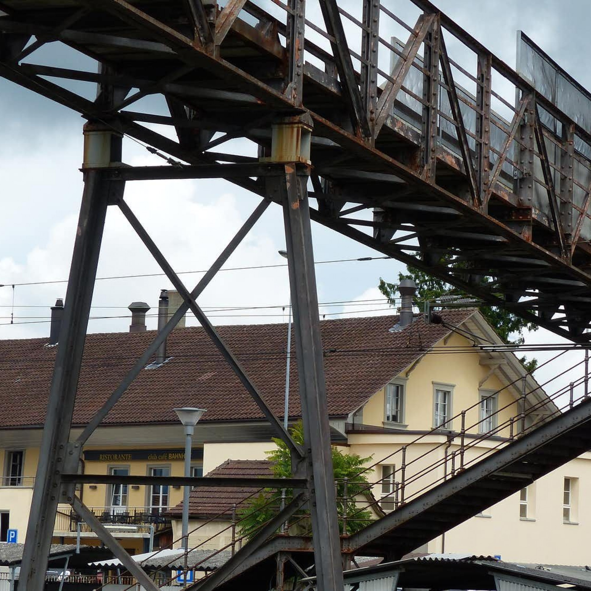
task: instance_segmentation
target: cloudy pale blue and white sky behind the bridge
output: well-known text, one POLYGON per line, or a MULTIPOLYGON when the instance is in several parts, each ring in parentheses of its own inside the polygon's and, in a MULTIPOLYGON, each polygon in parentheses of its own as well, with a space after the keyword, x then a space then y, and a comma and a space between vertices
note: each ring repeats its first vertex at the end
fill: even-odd
MULTIPOLYGON (((582 23, 591 21, 587 0, 435 0, 467 32, 511 66, 515 64, 515 31, 527 33, 584 86, 591 86, 586 66, 588 35, 582 23), (579 34, 577 35, 577 31, 579 34)), ((343 1, 355 14, 361 2, 343 1)), ((309 3, 309 14, 317 8, 309 3)), ((389 7, 414 24, 416 11, 406 0, 389 7)), ((316 21, 318 22, 318 21, 316 21)), ((353 35, 353 33, 352 33, 353 35)), ((383 36, 383 34, 382 34, 383 36)), ((454 59, 470 56, 448 41, 454 59)), ((73 52, 48 46, 30 57, 35 63, 94 69, 90 60, 73 52)), ((92 96, 92 87, 82 90, 92 96)), ((145 108, 160 108, 148 102, 145 108)), ((0 80, 0 338, 48 334, 49 306, 66 293, 74 229, 82 193, 82 119, 46 99, 0 80), (13 288, 12 285, 15 285, 13 288), (31 284, 31 285, 25 285, 31 284), (12 318, 12 323, 11 323, 12 318)), ((139 110, 137 106, 134 107, 139 110)), ((230 148, 227 148, 230 151, 230 148)), ((236 144, 236 150, 248 150, 236 144)), ((124 161, 133 165, 162 164, 144 148, 126 140, 124 161)), ((222 180, 152 181, 128 183, 126 199, 177 271, 206 269, 225 246, 258 199, 222 180)), ((356 259, 379 253, 314 227, 316 261, 356 259)), ((267 213, 226 267, 266 267, 221 272, 200 298, 216 323, 280 322, 281 306, 288 303, 287 269, 277 254, 284 248, 280 209, 267 213), (271 266, 274 265, 274 266, 271 266), (278 306, 273 308, 272 306, 278 306), (252 309, 236 310, 238 307, 252 309)), ((332 262, 316 267, 319 301, 326 317, 358 313, 356 302, 366 302, 365 313, 384 313, 376 284, 379 277, 394 281, 401 265, 395 261, 332 262), (347 304, 335 304, 347 302, 347 304)), ((109 211, 98 276, 158 273, 139 239, 125 219, 109 211)), ((200 274, 184 274, 191 288, 200 274)), ((170 287, 164 277, 103 279, 96 284, 90 332, 127 330, 126 307, 147 301, 155 311, 161 288, 170 287)), ((155 327, 155 318, 148 318, 155 327)), ((533 342, 557 342, 538 331, 533 342)), ((543 359, 543 355, 538 355, 543 359)))

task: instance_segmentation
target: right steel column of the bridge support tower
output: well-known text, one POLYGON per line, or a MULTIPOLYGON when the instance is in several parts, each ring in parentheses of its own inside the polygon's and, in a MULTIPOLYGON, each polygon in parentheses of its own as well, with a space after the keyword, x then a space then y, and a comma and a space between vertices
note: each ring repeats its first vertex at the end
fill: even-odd
POLYGON ((318 588, 323 591, 342 591, 343 567, 326 408, 307 180, 307 176, 296 173, 295 165, 286 164, 285 179, 276 188, 281 193, 285 223, 318 588))

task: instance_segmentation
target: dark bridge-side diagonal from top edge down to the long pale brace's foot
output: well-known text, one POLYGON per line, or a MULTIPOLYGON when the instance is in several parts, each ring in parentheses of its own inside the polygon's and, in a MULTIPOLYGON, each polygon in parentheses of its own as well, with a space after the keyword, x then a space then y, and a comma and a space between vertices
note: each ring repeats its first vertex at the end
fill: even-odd
POLYGON ((353 61, 349 53, 349 45, 343 28, 343 22, 340 20, 339 7, 336 0, 322 0, 320 10, 326 25, 326 31, 330 35, 330 46, 335 57, 336 68, 339 72, 340 85, 343 96, 346 99, 349 116, 353 124, 353 129, 362 138, 371 137, 369 121, 363 108, 361 92, 353 69, 353 61))

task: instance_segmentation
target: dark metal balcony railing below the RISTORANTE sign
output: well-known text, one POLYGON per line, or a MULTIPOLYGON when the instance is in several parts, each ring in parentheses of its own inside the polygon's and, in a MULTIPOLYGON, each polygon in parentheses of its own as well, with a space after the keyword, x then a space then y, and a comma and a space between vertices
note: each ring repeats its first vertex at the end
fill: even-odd
MULTIPOLYGON (((99 521, 111 530, 150 533, 171 527, 167 508, 152 507, 90 507, 99 521)), ((58 509, 54 531, 90 532, 92 529, 72 509, 58 509)))

